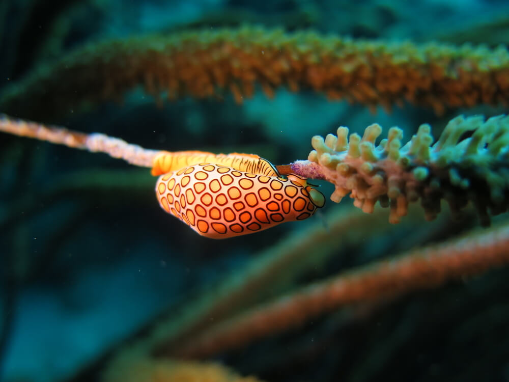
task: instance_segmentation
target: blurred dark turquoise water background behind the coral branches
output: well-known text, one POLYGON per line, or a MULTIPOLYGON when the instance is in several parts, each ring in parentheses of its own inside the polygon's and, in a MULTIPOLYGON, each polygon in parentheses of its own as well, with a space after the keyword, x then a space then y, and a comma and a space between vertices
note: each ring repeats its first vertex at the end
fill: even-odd
MULTIPOLYGON (((6 0, 0 5, 0 95, 73 49, 129 36, 214 33, 257 25, 388 45, 408 40, 490 48, 501 44, 506 49, 508 21, 509 6, 495 0, 429 0, 417 5, 327 0, 51 4, 6 0)), ((86 66, 86 57, 82 62, 86 66)), ((91 77, 113 75, 94 70, 88 73, 91 77)), ((69 78, 62 79, 66 81, 69 78)), ((39 99, 25 99, 27 92, 21 92, 17 107, 10 109, 0 102, 0 113, 100 132, 148 149, 256 153, 274 165, 284 165, 306 159, 313 135, 325 136, 338 126, 362 133, 377 122, 385 134, 397 125, 409 139, 421 123, 430 123, 438 137, 457 115, 507 112, 507 105, 478 102, 473 107, 446 108, 438 116, 428 106, 404 102, 393 105, 389 113, 381 105, 370 110, 363 103, 329 101, 305 86, 298 92, 274 86, 274 97, 269 99, 260 84, 242 105, 229 91, 176 100, 163 95, 158 102, 142 87, 132 87, 121 102, 96 97, 86 105, 60 106, 59 102, 64 104, 86 89, 89 81, 93 83, 78 78, 81 85, 64 99, 53 100, 59 86, 65 88, 57 77, 54 87, 43 86, 37 93, 39 99), (44 113, 49 104, 59 113, 44 113)), ((101 89, 97 94, 102 91, 107 93, 101 89)), ((340 204, 328 200, 333 187, 318 180, 312 183, 320 185, 327 203, 309 219, 211 240, 158 207, 156 178, 148 169, 100 153, 1 134, 0 379, 5 381, 113 380, 104 372, 118 354, 151 338, 152 329, 161 322, 185 321, 182 312, 200 298, 209 304, 221 301, 225 292, 211 291, 222 288, 233 293, 232 285, 240 283, 235 277, 247 279, 246 269, 261 269, 278 255, 292 260, 273 274, 268 272, 261 285, 249 286, 236 302, 229 302, 232 311, 202 317, 197 310, 191 317, 210 326, 342 271, 479 227, 472 210, 453 222, 445 206, 431 223, 422 218, 419 208, 400 225, 389 225, 383 210, 369 220, 352 207, 350 198, 340 204), (349 223, 357 215, 365 221, 349 223), (337 232, 334 227, 340 221, 344 227, 337 232), (317 232, 323 236, 306 247, 305 256, 293 258, 293 249, 285 253, 285 248, 317 232), (229 284, 222 286, 225 281, 229 284)), ((505 219, 501 214, 494 222, 504 224, 505 219)), ((509 380, 507 276, 507 269, 500 267, 448 280, 436 288, 334 307, 304 322, 289 318, 290 323, 279 330, 253 336, 241 346, 220 348, 202 360, 267 381, 509 380)), ((170 356, 147 357, 153 362, 180 360, 179 348, 198 330, 192 335, 181 331, 185 335, 173 344, 170 356)), ((151 350, 157 352, 155 346, 151 350)))

